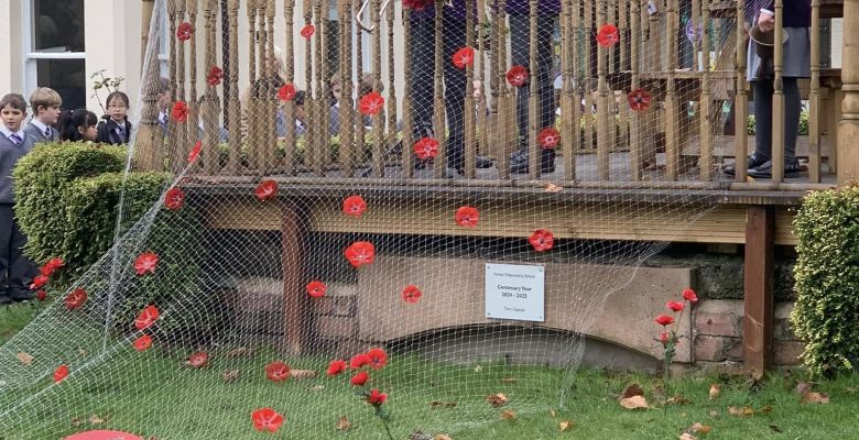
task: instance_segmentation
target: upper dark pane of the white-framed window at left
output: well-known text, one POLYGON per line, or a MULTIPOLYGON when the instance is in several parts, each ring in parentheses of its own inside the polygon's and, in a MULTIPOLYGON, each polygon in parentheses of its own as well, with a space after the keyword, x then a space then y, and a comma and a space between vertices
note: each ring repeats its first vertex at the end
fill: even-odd
POLYGON ((33 51, 84 52, 84 0, 33 0, 33 51))

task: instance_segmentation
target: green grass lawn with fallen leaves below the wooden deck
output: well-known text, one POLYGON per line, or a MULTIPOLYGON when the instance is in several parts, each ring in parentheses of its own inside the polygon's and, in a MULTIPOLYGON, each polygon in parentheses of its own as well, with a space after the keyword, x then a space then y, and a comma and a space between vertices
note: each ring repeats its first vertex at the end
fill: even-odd
MULTIPOLYGON (((31 306, 0 310, 0 341, 8 340, 31 319, 31 306)), ((50 372, 28 393, 35 398, 10 402, 0 393, 0 439, 57 439, 95 428, 123 429, 145 438, 168 439, 387 439, 372 409, 362 404, 348 375, 324 374, 304 381, 275 384, 264 378, 263 366, 274 358, 258 351, 248 358, 230 358, 230 346, 210 349, 209 366, 182 365, 189 352, 154 346, 137 353, 127 344, 111 354, 74 371, 66 382, 53 385, 50 372), (239 376, 225 382, 225 371, 239 376), (251 410, 271 406, 286 421, 274 435, 253 431, 251 410), (97 418, 90 420, 96 415, 97 418), (340 417, 351 427, 338 430, 340 417), (75 426, 73 426, 75 425, 75 426)), ((0 350, 0 355, 8 355, 0 350)), ((323 370, 324 358, 286 359, 294 369, 323 370)), ((711 428, 699 439, 851 439, 859 432, 859 375, 814 384, 829 395, 826 405, 801 404, 794 392, 802 375, 772 374, 752 384, 740 377, 688 375, 672 385, 672 395, 689 400, 659 406, 661 380, 635 374, 611 374, 581 369, 575 372, 548 367, 501 364, 447 365, 428 363, 410 354, 392 354, 389 365, 371 371, 372 387, 389 393, 394 439, 422 431, 464 439, 677 439, 695 422, 711 428), (629 410, 618 395, 638 383, 655 409, 629 410), (721 384, 715 400, 711 383, 721 384), (562 399, 561 391, 565 389, 562 399), (504 405, 493 407, 486 397, 503 393, 504 405), (435 405, 433 405, 435 403, 435 405), (729 407, 749 407, 753 414, 733 416, 729 407), (510 413, 512 411, 512 413, 510 413), (507 415, 507 417, 504 417, 507 415), (558 424, 569 421, 561 431, 558 424)), ((0 374, 2 374, 0 372, 0 374)), ((0 388, 2 391, 2 388, 0 388)), ((412 436, 413 439, 432 439, 412 436)))

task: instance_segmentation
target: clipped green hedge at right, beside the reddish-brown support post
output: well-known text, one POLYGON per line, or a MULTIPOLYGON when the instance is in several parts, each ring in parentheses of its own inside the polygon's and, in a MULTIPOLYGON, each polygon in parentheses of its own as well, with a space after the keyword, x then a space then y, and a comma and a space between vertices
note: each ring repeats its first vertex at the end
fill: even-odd
POLYGON ((795 334, 814 375, 852 371, 859 359, 859 186, 813 193, 794 219, 795 334))

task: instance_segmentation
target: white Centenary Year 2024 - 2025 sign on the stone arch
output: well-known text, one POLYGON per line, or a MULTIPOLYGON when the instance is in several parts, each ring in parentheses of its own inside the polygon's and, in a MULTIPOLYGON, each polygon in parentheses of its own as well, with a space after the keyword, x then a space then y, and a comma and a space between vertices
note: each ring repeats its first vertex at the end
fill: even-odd
POLYGON ((486 317, 543 322, 545 275, 543 266, 487 263, 486 317))

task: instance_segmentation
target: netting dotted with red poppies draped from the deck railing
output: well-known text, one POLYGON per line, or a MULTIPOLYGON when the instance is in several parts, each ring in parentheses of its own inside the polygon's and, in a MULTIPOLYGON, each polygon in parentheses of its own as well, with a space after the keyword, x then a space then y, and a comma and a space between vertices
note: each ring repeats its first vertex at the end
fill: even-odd
POLYGON ((0 438, 253 438, 261 408, 388 438, 370 389, 398 439, 563 407, 606 299, 720 195, 740 11, 711 10, 156 1, 128 176, 168 184, 0 349, 0 438))

